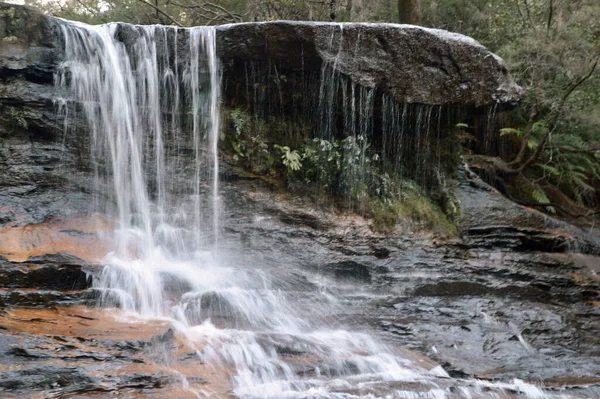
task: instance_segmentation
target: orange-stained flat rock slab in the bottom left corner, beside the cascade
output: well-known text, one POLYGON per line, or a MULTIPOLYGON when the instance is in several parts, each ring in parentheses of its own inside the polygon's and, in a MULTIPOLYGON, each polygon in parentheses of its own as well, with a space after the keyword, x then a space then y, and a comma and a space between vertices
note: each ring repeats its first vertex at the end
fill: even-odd
POLYGON ((182 388, 183 376, 196 389, 209 378, 209 389, 229 389, 218 372, 189 358, 193 349, 165 322, 58 307, 9 309, 0 326, 3 398, 196 398, 182 388))

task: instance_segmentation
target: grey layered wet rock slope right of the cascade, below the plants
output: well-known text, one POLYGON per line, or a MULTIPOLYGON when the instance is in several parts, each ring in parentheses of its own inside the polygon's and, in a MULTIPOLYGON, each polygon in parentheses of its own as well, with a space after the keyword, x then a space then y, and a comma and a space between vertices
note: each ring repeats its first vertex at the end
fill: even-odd
MULTIPOLYGON (((243 237, 254 264, 270 265, 263 267, 283 273, 284 281, 290 276, 277 263, 285 256, 280 254, 293 253, 286 269, 343 298, 335 313, 340 325, 368 325, 385 340, 439 362, 453 377, 521 378, 548 386, 585 386, 569 392, 597 395, 597 237, 503 202, 499 193, 470 180, 474 177, 462 179, 461 198, 475 195, 478 202, 465 201, 463 237, 455 241, 410 231, 379 236, 365 220, 328 211, 321 213, 322 223, 332 226, 328 230, 302 224, 291 228, 278 218, 299 209, 315 217, 318 211, 301 201, 268 200, 256 188, 243 194, 244 212, 269 216, 250 221, 234 212, 228 229, 243 237), (495 215, 489 211, 494 201, 502 203, 495 215), (498 225, 497 240, 473 234, 476 226, 491 230, 498 225)), ((231 190, 235 203, 243 187, 223 190, 231 190)))

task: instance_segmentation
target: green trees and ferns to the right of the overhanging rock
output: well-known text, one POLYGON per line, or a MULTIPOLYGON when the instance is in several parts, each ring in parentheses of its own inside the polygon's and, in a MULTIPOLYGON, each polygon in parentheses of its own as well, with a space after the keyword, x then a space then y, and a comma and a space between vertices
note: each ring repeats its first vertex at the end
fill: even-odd
POLYGON ((580 216, 600 205, 600 2, 425 0, 424 22, 476 37, 525 89, 497 132, 495 157, 471 160, 513 199, 580 216))

